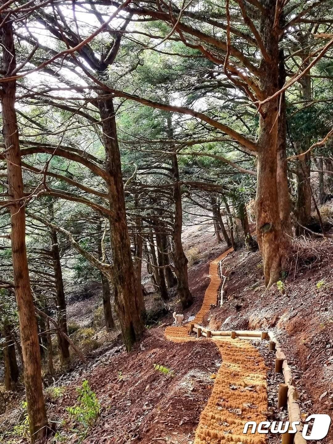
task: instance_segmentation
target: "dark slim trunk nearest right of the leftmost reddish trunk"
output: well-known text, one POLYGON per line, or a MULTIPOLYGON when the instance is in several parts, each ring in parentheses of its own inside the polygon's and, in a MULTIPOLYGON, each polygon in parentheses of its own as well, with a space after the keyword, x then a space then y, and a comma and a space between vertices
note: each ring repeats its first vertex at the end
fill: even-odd
MULTIPOLYGON (((52 217, 53 217, 53 207, 52 207, 52 217)), ((63 331, 63 333, 66 333, 68 336, 66 299, 65 299, 65 292, 63 289, 63 272, 61 270, 59 244, 58 244, 58 236, 56 230, 51 229, 51 239, 52 239, 52 260, 53 260, 54 275, 56 280, 58 324, 60 326, 61 331, 63 331)), ((58 346, 60 352, 60 360, 63 364, 65 364, 70 357, 69 344, 66 341, 66 339, 59 333, 57 334, 57 337, 58 337, 58 346)))

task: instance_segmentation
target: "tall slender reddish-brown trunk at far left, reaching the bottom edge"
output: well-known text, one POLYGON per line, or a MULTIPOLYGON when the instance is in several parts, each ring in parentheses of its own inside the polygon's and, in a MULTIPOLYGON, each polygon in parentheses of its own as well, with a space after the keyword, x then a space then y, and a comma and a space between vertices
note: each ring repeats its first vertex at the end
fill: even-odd
MULTIPOLYGON (((1 20, 3 19, 2 16, 1 20)), ((2 55, 4 71, 6 76, 10 76, 16 67, 11 20, 4 20, 0 29, 0 38, 4 48, 2 55)), ((8 194, 10 200, 12 200, 10 214, 13 277, 20 321, 29 428, 31 440, 35 442, 47 434, 48 420, 43 396, 37 321, 32 301, 25 245, 24 186, 15 111, 16 81, 2 83, 0 95, 3 118, 2 131, 8 171, 8 194)))

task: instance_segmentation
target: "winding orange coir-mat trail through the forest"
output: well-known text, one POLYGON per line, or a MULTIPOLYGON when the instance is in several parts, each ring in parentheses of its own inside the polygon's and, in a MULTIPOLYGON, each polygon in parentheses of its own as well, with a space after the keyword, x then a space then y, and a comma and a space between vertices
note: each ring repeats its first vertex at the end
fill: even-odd
MULTIPOLYGON (((225 251, 210 263, 210 284, 197 313, 194 323, 201 323, 210 310, 216 305, 221 279, 218 266, 233 248, 225 251)), ((169 341, 196 341, 189 335, 189 324, 181 327, 167 327, 165 336, 169 341)), ((222 357, 222 364, 215 380, 213 390, 206 407, 202 411, 194 444, 264 444, 265 435, 243 434, 247 421, 257 423, 266 420, 268 408, 266 365, 258 350, 250 341, 240 339, 211 339, 217 345, 222 357)))

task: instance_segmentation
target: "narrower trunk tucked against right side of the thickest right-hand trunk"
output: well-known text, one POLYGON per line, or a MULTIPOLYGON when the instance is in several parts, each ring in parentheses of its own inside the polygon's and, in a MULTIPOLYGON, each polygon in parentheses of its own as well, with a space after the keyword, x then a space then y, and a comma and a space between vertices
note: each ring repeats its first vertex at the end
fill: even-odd
MULTIPOLYGON (((285 59, 283 49, 279 52, 279 88, 285 84, 285 59)), ((280 115, 277 124, 277 194, 279 197, 279 214, 282 231, 288 236, 293 236, 290 218, 290 198, 288 187, 288 169, 286 155, 287 117, 285 107, 285 93, 280 96, 280 115)))

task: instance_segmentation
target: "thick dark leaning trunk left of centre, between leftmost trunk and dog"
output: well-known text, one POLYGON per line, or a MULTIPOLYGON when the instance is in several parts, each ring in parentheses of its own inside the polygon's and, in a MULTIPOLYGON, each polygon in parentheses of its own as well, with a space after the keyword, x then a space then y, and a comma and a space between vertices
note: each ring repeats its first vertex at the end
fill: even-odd
MULTIPOLYGON (((135 274, 128 235, 123 177, 115 123, 115 109, 110 97, 98 101, 103 122, 103 141, 106 153, 105 169, 108 174, 107 192, 110 208, 110 240, 114 263, 113 286, 115 310, 119 319, 123 341, 129 351, 143 334, 142 306, 136 292, 135 274)), ((141 293, 142 294, 142 293, 141 293)))

